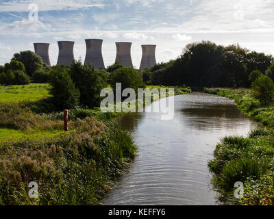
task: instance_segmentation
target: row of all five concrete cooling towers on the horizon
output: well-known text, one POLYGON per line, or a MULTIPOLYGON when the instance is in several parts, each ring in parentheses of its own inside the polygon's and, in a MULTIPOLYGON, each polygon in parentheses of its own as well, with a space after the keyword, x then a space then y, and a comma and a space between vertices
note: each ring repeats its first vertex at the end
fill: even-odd
MULTIPOLYGON (((101 39, 86 39, 86 58, 85 65, 91 64, 95 69, 105 69, 102 55, 101 39)), ((58 41, 59 55, 57 64, 64 66, 71 65, 71 62, 75 60, 73 54, 75 42, 73 41, 58 41)), ((132 55, 131 48, 132 42, 115 42, 116 44, 116 59, 115 62, 120 62, 124 67, 132 67, 132 55)), ((142 45, 142 60, 139 70, 145 68, 151 68, 156 64, 155 59, 156 45, 145 44, 142 45)), ((37 55, 42 57, 43 62, 51 66, 49 60, 49 43, 34 43, 34 50, 37 55)))

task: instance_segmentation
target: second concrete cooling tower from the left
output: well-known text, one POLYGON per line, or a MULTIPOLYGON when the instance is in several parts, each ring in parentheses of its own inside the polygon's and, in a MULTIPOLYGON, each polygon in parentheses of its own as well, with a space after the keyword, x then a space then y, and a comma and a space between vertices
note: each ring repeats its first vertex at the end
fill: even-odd
POLYGON ((74 60, 73 55, 73 41, 58 41, 59 55, 57 64, 62 64, 64 66, 71 65, 74 60))

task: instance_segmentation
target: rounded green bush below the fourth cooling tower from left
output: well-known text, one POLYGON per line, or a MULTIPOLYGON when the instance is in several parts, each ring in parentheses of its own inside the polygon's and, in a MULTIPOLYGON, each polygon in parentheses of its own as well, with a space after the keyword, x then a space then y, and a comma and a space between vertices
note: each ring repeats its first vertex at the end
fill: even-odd
POLYGON ((122 84, 122 90, 125 88, 132 88, 137 93, 138 88, 145 88, 145 83, 142 82, 142 77, 140 77, 138 70, 131 67, 123 67, 115 70, 112 73, 112 79, 110 85, 115 90, 116 83, 122 84))

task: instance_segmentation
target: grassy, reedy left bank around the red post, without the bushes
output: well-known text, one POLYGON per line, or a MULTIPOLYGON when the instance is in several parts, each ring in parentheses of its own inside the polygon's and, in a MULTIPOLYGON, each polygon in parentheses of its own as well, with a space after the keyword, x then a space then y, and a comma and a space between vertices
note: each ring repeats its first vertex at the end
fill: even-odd
MULTIPOLYGON (((137 146, 112 120, 119 114, 99 108, 69 110, 65 133, 63 112, 51 105, 47 88, 1 87, 0 204, 97 205, 137 146), (31 181, 38 183, 38 199, 28 196, 31 181)), ((187 92, 176 88, 174 94, 187 92)))

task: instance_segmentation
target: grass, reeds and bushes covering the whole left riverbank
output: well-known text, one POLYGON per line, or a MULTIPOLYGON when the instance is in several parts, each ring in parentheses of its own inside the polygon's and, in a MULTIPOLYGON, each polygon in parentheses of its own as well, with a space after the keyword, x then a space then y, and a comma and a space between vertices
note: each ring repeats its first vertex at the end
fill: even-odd
MULTIPOLYGON (((137 153, 131 134, 112 119, 120 114, 99 109, 100 91, 116 82, 145 88, 140 73, 122 66, 109 73, 80 62, 68 67, 38 65, 33 73, 21 62, 11 63, 29 76, 18 85, 8 64, 1 68, 0 204, 100 204, 137 153), (69 109, 67 132, 64 109, 69 109), (29 198, 32 181, 38 183, 37 199, 29 198)), ((189 88, 175 88, 174 94, 188 92, 189 88)))

